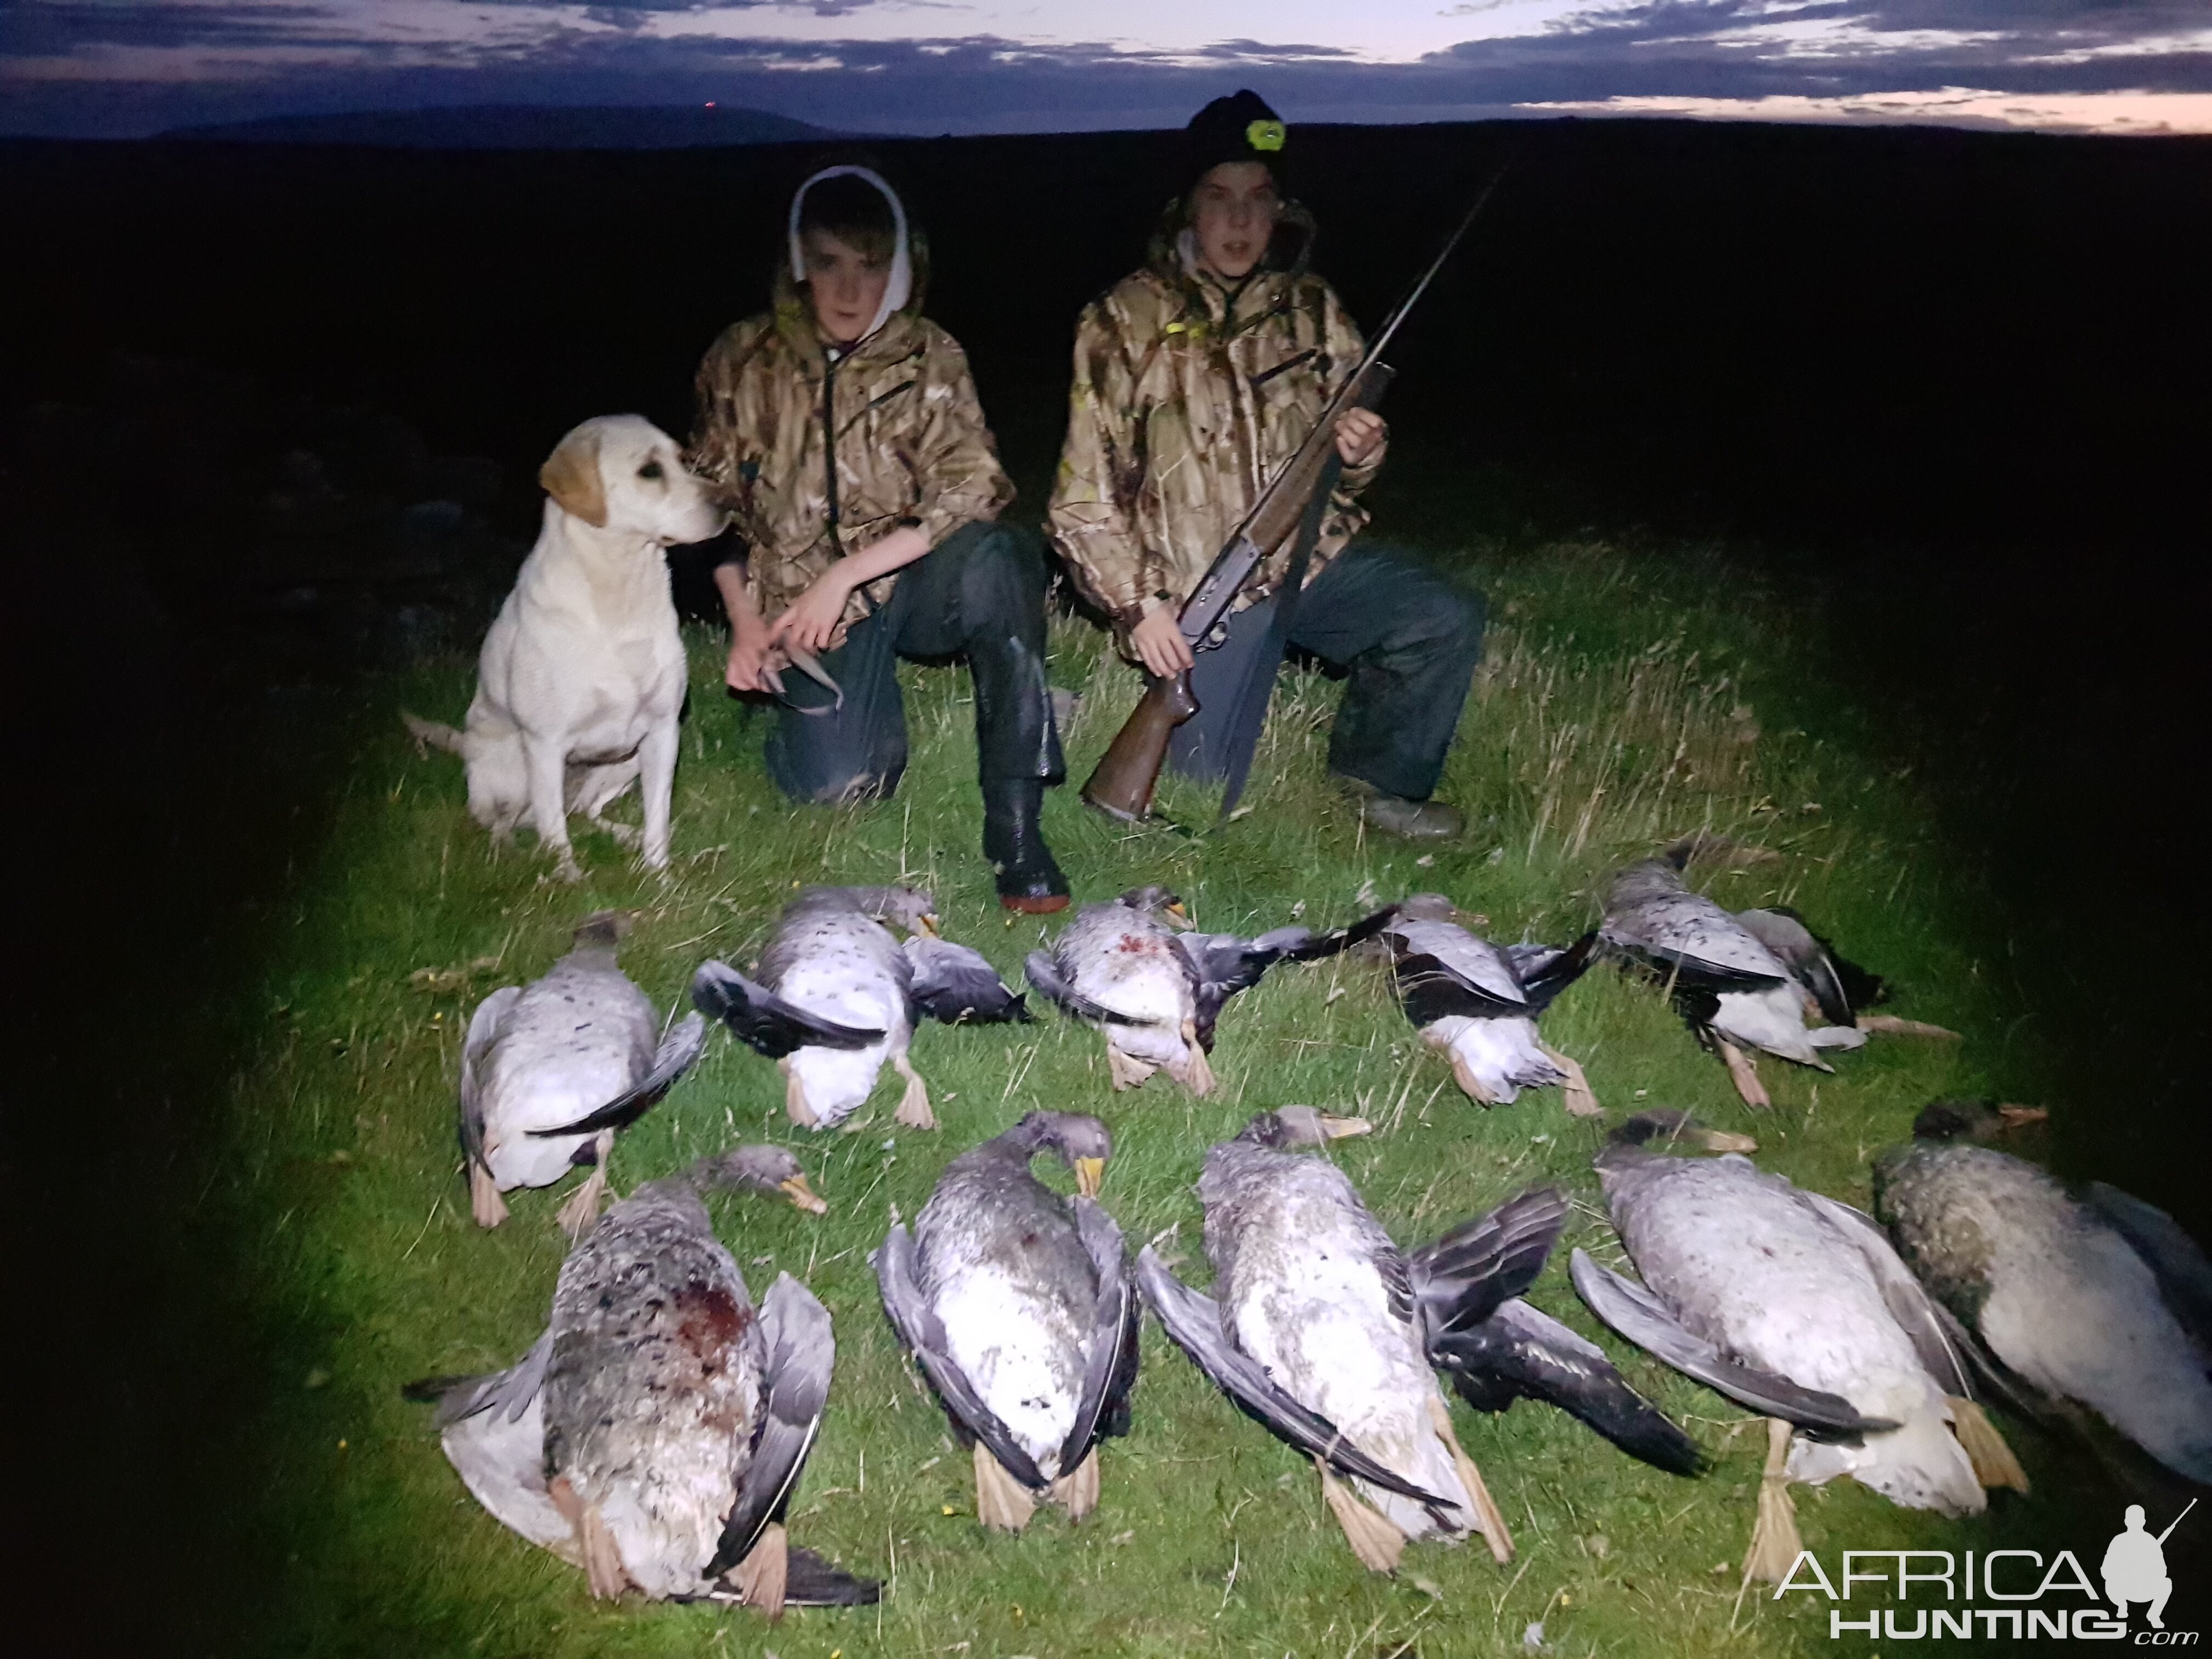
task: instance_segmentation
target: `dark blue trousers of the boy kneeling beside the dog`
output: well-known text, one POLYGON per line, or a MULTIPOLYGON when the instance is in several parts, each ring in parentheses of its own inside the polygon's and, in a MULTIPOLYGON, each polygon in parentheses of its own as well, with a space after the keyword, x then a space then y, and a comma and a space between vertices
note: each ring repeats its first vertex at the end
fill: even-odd
POLYGON ((1044 551, 1011 524, 962 524, 898 573, 883 611, 845 630, 823 670, 845 706, 794 668, 768 734, 768 774, 792 801, 885 796, 907 770, 898 659, 967 657, 975 677, 975 772, 1057 783, 1060 730, 1044 686, 1044 551))

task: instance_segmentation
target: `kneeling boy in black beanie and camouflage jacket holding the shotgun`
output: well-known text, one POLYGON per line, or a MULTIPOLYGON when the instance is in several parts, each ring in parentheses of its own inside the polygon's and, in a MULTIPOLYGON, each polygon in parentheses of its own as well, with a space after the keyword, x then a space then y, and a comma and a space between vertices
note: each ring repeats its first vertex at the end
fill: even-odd
MULTIPOLYGON (((1237 597, 1225 639, 1194 659, 1177 628, 1183 599, 1363 352, 1336 292, 1305 268, 1314 221, 1281 190, 1285 142, 1250 91, 1183 128, 1183 190, 1150 259, 1077 323, 1053 487, 1053 538, 1124 655, 1152 675, 1190 670, 1201 712, 1177 728, 1168 765, 1201 781, 1259 739, 1290 540, 1237 597)), ((1354 546, 1387 436, 1367 409, 1338 416, 1343 473, 1285 639, 1349 668, 1329 770, 1367 823, 1436 838, 1462 827, 1429 794, 1482 655, 1482 597, 1374 542, 1354 546)))

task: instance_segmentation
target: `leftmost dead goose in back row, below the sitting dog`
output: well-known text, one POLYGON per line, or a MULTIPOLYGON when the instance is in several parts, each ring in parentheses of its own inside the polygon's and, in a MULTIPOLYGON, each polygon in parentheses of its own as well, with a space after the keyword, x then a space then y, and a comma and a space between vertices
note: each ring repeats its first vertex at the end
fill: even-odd
POLYGON ((560 1223, 568 1237, 588 1228, 615 1130, 644 1117, 706 1044, 706 1020, 688 1013, 655 1046, 661 1020, 615 964, 626 925, 615 911, 586 918, 542 980, 476 1004, 460 1048, 460 1150, 478 1225, 507 1219, 502 1192, 553 1186, 582 1164, 591 1179, 560 1223))

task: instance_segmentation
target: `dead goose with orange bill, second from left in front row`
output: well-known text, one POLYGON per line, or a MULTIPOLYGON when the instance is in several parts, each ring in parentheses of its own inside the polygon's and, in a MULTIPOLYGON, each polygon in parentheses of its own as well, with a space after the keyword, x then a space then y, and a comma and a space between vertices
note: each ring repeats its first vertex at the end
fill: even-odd
POLYGON ((1128 1433, 1137 1287, 1121 1230, 1093 1199, 1113 1157, 1095 1117, 1029 1113, 945 1166, 914 1234, 876 1254, 883 1310, 973 1442, 975 1517, 1018 1533, 1040 1500, 1082 1520, 1099 1498, 1099 1440, 1128 1433), (1073 1172, 1062 1199, 1037 1152, 1073 1172))

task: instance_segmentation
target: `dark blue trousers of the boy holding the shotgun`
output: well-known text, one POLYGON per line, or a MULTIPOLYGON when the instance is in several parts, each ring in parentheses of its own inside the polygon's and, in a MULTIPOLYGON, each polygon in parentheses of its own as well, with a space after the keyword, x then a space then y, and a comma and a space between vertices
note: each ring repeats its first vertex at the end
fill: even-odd
MULTIPOLYGON (((1175 730, 1168 765, 1219 783, 1230 754, 1259 739, 1274 690, 1261 646, 1276 599, 1230 617, 1230 637, 1190 670, 1199 712, 1175 730)), ((1427 801, 1482 661, 1482 595, 1378 542, 1354 542, 1305 584, 1290 646, 1349 668, 1329 732, 1329 770, 1427 801)))

